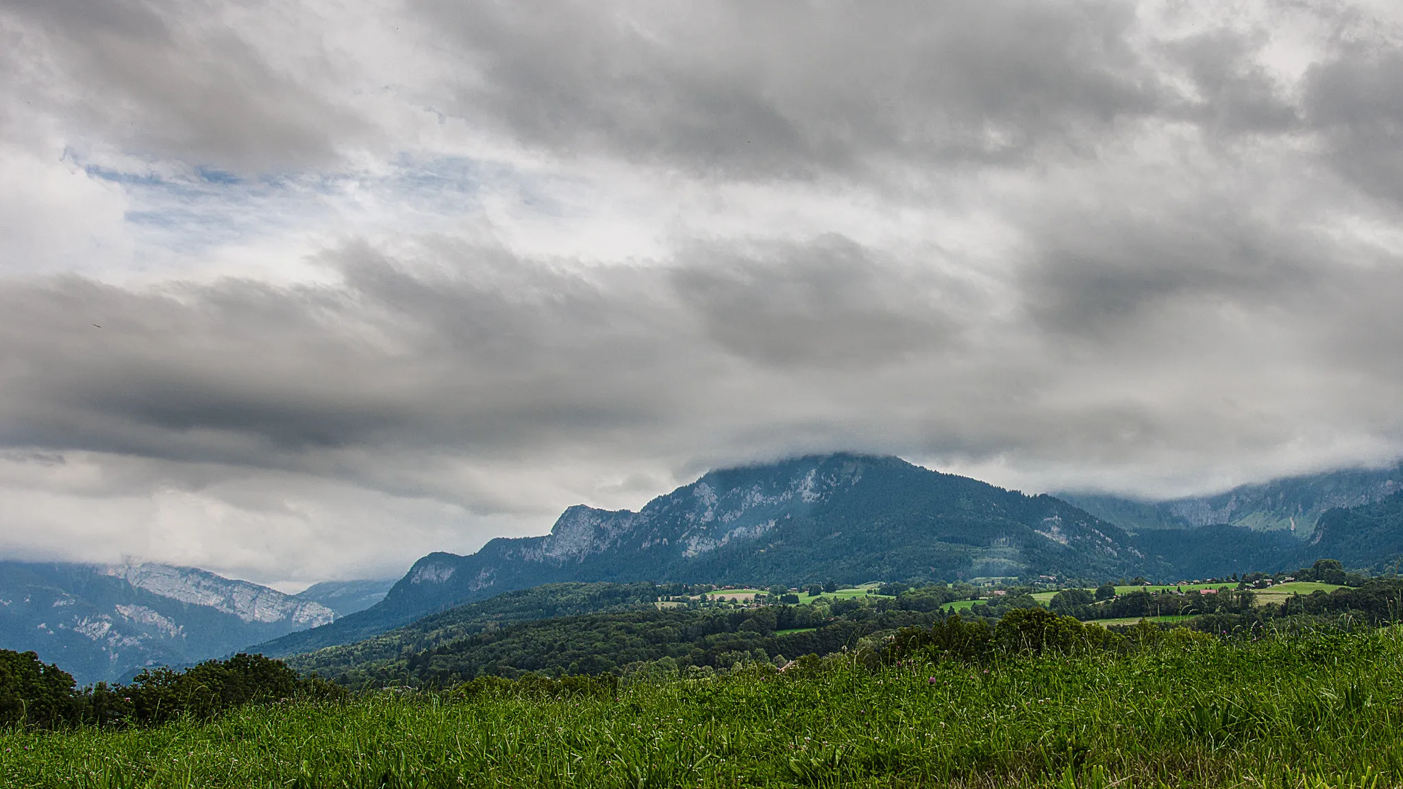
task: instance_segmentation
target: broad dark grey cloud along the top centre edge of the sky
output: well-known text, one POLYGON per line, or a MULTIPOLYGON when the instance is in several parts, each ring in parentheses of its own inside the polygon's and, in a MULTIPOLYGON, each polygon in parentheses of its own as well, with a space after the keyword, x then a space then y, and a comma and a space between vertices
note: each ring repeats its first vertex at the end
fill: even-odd
POLYGON ((1166 101, 1122 3, 415 8, 470 69, 452 111, 526 143, 742 178, 1016 164, 1166 101))

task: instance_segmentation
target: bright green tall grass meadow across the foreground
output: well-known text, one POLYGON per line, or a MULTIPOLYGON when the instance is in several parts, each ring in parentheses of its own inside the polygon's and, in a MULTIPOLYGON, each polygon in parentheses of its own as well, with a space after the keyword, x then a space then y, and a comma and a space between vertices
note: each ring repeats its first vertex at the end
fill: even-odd
POLYGON ((104 789, 1403 785, 1397 628, 551 687, 11 731, 0 778, 104 789))

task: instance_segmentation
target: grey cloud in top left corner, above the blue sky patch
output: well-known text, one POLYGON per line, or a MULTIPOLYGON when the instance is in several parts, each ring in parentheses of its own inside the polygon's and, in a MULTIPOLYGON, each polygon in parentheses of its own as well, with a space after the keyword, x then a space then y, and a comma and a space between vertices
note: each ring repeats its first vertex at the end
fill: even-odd
POLYGON ((268 42, 229 24, 220 3, 6 0, 0 11, 25 45, 11 76, 27 98, 128 153, 261 173, 327 164, 363 129, 271 63, 268 42))

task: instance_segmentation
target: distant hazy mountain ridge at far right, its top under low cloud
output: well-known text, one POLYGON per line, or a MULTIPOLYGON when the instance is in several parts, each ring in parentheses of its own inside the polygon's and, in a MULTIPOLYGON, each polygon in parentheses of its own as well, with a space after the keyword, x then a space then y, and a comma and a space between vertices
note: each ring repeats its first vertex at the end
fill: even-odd
POLYGON ((1347 469, 1244 484, 1207 497, 1139 501, 1092 493, 1058 493, 1065 501, 1131 531, 1184 529, 1228 524, 1253 531, 1284 531, 1309 539, 1320 515, 1379 501, 1403 490, 1403 463, 1388 469, 1347 469))

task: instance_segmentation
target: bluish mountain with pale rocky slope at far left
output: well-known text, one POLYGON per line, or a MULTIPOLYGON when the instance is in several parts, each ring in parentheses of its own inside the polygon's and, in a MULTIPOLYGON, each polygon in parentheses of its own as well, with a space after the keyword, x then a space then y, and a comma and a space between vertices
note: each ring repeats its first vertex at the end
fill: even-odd
POLYGON ((80 684, 220 657, 335 612, 194 567, 0 562, 0 649, 34 650, 80 684))

